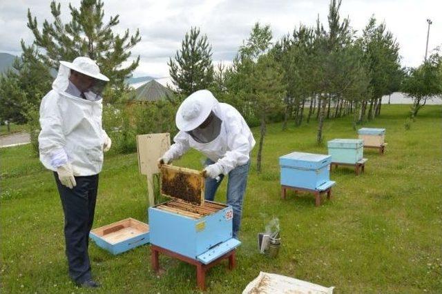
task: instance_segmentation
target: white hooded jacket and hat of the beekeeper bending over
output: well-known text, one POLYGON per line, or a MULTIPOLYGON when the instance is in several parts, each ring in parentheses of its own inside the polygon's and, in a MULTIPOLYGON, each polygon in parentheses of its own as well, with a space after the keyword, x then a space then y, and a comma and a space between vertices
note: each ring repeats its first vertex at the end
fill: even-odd
POLYGON ((247 164, 256 144, 240 112, 229 104, 218 102, 209 90, 199 90, 187 97, 177 111, 175 123, 180 132, 173 138, 175 144, 162 157, 164 163, 181 157, 189 148, 195 148, 215 162, 217 171, 227 175, 236 166, 247 164), (211 113, 219 119, 220 128, 214 127, 217 130, 214 139, 202 142, 192 135, 192 131, 198 130, 211 113))

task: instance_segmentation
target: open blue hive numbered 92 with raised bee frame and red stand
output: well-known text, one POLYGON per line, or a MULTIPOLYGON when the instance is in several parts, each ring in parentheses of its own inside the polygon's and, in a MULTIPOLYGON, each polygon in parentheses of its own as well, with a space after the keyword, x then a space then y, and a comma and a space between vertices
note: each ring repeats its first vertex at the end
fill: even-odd
POLYGON ((152 266, 159 270, 163 253, 197 267, 198 286, 205 288, 205 272, 222 259, 235 265, 235 249, 241 243, 232 237, 233 209, 204 201, 202 172, 163 165, 161 192, 168 202, 148 208, 152 266))

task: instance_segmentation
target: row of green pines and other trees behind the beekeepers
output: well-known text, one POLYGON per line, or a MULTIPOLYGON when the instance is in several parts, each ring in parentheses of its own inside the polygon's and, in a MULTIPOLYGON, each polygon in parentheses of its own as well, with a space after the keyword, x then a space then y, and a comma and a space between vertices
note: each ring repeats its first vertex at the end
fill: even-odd
MULTIPOLYGON (((280 122, 285 129, 290 124, 317 121, 316 140, 321 144, 326 119, 352 115, 356 128, 380 115, 383 95, 398 90, 410 95, 414 101, 413 118, 427 99, 440 97, 439 50, 417 68, 401 68, 399 44, 385 23, 378 23, 372 16, 358 33, 349 17, 340 16, 340 5, 340 0, 330 1, 327 23, 321 23, 318 17, 312 26, 300 24, 278 40, 273 40, 269 25, 256 23, 229 66, 215 66, 208 37, 200 28, 191 28, 168 62, 175 95, 166 101, 136 106, 148 110, 127 110, 132 95, 124 79, 137 68, 140 57, 126 67, 122 64, 127 63, 131 48, 140 42, 140 32, 115 34, 119 15, 104 21, 104 3, 100 0, 81 1, 79 8, 69 5, 71 19, 63 23, 60 4, 52 1, 53 21, 45 20, 41 28, 28 10, 28 28, 35 40, 30 46, 21 41, 21 58, 0 77, 0 119, 28 121, 38 128, 35 119, 39 101, 50 90, 59 61, 88 56, 111 78, 104 92, 104 115, 117 118, 112 122, 104 117, 104 121, 109 121, 105 126, 110 128, 128 130, 122 139, 124 152, 135 148, 127 148, 128 143, 124 142, 131 141, 131 135, 139 131, 174 133, 173 124, 164 121, 174 121, 173 110, 184 97, 207 88, 220 101, 235 106, 251 126, 259 126, 260 170, 269 122, 280 122), (148 124, 135 123, 135 112, 156 119, 148 119, 148 124)), ((130 146, 135 144, 131 141, 130 146)))

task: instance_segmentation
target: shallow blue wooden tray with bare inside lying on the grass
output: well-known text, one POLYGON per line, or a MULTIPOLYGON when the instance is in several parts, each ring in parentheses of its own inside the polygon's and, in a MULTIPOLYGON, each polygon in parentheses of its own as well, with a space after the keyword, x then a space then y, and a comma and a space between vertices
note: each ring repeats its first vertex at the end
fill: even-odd
POLYGON ((97 246, 113 255, 131 250, 149 242, 149 226, 137 219, 123 219, 107 226, 95 228, 89 233, 97 246))

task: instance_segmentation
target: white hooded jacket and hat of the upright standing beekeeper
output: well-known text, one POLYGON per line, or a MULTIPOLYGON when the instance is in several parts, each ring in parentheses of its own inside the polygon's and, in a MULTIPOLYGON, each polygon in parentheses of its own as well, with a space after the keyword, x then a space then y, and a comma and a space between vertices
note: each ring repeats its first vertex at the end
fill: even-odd
MULTIPOLYGON (((40 106, 40 160, 49 170, 70 164, 73 175, 96 175, 102 170, 103 149, 111 140, 102 128, 102 86, 109 79, 99 73, 95 61, 77 57, 73 63, 60 61, 52 90, 40 106), (95 86, 81 97, 66 90, 70 71, 95 79, 95 86)), ((75 184, 73 185, 75 186, 75 184)))

